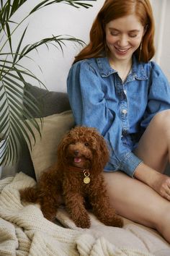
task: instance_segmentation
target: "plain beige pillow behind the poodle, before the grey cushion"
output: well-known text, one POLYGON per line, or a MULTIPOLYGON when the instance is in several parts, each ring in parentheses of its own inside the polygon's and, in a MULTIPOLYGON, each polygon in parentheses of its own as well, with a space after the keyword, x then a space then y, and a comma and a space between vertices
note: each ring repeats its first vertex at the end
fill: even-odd
MULTIPOLYGON (((36 119, 40 124, 40 119, 36 119)), ((33 128, 36 143, 30 136, 32 150, 30 155, 35 168, 35 176, 39 179, 40 174, 46 168, 57 161, 57 148, 61 137, 74 126, 73 114, 71 111, 64 111, 61 114, 53 114, 43 118, 42 137, 33 128)), ((30 147, 29 147, 30 148, 30 147)))

